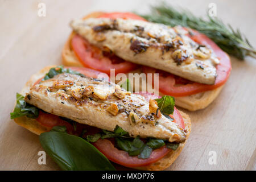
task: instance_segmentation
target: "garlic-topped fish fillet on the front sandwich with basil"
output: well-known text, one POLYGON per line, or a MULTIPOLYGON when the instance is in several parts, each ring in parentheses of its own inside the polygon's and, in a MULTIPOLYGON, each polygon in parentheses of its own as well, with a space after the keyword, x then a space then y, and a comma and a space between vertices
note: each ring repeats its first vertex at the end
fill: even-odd
POLYGON ((160 118, 151 115, 149 103, 143 96, 121 88, 125 96, 119 98, 116 93, 120 90, 117 92, 116 88, 120 88, 119 85, 112 82, 63 73, 32 86, 24 100, 47 113, 100 129, 114 131, 118 125, 131 137, 139 135, 142 138, 168 139, 170 142, 185 140, 186 132, 175 122, 163 115, 160 118), (93 88, 93 92, 86 95, 88 88, 93 88), (118 105, 117 115, 109 112, 110 105, 118 105), (138 117, 153 118, 155 124, 138 122, 132 125, 129 119, 131 111, 138 117))

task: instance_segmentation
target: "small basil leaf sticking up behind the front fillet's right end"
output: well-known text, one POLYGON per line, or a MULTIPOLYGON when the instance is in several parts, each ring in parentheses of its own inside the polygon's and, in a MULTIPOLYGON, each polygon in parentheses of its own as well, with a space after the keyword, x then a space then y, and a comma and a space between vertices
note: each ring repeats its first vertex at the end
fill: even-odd
POLYGON ((156 102, 158 102, 158 107, 161 113, 167 117, 168 119, 172 119, 169 115, 174 113, 174 105, 175 99, 172 96, 163 96, 162 98, 156 98, 156 102))

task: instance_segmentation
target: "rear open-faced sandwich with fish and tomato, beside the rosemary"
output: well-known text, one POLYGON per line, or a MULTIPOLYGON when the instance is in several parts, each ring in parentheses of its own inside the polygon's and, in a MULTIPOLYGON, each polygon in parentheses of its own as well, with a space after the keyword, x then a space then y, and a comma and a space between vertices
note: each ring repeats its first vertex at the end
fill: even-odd
MULTIPOLYGON (((159 92, 188 110, 207 107, 231 71, 229 56, 207 36, 147 22, 131 13, 92 13, 71 22, 63 64, 110 74, 159 73, 159 92)), ((154 79, 154 78, 153 78, 154 79)), ((154 81, 152 81, 154 84, 154 81)))

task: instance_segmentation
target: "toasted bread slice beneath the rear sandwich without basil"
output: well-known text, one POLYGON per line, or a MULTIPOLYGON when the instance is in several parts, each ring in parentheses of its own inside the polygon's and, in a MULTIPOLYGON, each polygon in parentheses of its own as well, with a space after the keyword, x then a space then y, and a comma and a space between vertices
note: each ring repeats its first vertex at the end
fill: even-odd
MULTIPOLYGON (((91 14, 85 16, 84 19, 96 18, 97 16, 100 16, 101 14, 102 14, 102 12, 94 12, 94 13, 91 13, 91 14)), ((71 47, 71 40, 74 35, 75 35, 75 32, 72 32, 71 35, 69 35, 69 38, 64 45, 64 48, 62 51, 63 65, 69 66, 69 67, 82 67, 82 64, 77 59, 77 57, 71 47)), ((220 93, 223 86, 220 86, 213 90, 209 90, 207 92, 193 94, 191 96, 175 97, 175 104, 177 106, 183 107, 184 109, 187 109, 190 111, 204 109, 210 103, 212 103, 213 100, 218 96, 218 94, 220 93)), ((160 95, 161 95, 161 93, 160 93, 160 95)))

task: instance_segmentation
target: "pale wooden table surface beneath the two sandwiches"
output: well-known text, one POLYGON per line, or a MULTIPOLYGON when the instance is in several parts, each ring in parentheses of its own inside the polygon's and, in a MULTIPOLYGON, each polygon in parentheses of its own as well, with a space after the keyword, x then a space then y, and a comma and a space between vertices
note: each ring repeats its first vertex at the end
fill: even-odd
MULTIPOLYGON (((171 1, 196 15, 205 15, 213 1, 171 1)), ((72 18, 96 10, 148 11, 156 1, 0 1, 0 169, 59 169, 47 157, 38 164, 43 150, 37 135, 10 119, 19 92, 28 78, 46 65, 61 64, 61 49, 68 38, 72 18), (46 17, 38 16, 38 4, 46 3, 46 17)), ((256 46, 256 2, 214 1, 217 15, 239 27, 256 46)), ((232 73, 220 96, 207 109, 186 111, 192 119, 187 145, 169 170, 255 170, 256 146, 256 60, 232 57, 232 73), (216 165, 209 152, 215 151, 216 165)))

